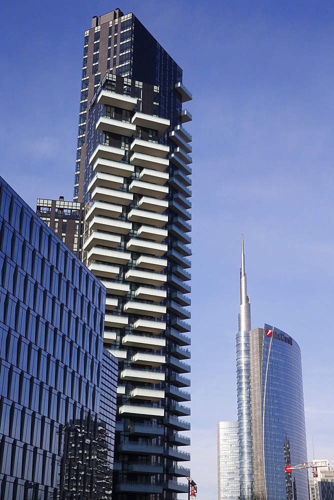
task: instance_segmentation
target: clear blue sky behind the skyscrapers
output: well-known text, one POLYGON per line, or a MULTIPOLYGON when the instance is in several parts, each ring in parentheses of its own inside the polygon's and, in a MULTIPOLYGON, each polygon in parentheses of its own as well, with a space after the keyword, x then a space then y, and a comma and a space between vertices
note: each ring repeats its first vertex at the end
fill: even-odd
POLYGON ((236 418, 241 233, 252 326, 298 342, 309 459, 312 437, 317 458, 334 458, 334 2, 7 2, 0 174, 33 208, 71 199, 83 31, 115 7, 193 93, 191 474, 215 500, 215 425, 236 418))

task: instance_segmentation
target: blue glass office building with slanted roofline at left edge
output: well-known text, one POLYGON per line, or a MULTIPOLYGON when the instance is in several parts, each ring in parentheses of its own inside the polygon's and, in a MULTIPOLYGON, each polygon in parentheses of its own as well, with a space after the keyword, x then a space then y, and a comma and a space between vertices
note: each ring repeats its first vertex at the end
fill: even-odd
POLYGON ((110 498, 105 288, 0 178, 0 498, 110 498), (102 445, 101 445, 102 444, 102 445))

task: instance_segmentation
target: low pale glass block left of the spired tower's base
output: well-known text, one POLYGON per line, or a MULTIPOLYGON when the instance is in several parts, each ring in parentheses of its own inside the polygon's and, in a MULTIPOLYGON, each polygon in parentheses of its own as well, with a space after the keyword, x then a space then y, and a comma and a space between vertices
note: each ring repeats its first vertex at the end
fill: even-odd
POLYGON ((218 500, 238 500, 239 459, 237 422, 217 423, 218 500))

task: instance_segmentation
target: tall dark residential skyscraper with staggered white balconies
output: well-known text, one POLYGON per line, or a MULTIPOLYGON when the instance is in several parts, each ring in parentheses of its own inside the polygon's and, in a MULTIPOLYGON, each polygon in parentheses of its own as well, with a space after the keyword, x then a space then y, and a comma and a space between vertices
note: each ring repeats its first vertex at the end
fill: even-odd
POLYGON ((85 32, 74 200, 86 203, 83 259, 106 287, 104 343, 118 358, 114 493, 187 492, 179 431, 190 395, 188 257, 191 99, 182 70, 132 14, 85 32))

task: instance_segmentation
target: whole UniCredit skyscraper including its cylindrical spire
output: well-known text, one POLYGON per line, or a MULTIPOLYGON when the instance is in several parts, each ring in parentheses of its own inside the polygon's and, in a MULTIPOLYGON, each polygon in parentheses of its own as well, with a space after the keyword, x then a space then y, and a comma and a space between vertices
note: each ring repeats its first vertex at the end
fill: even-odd
POLYGON ((241 499, 308 500, 301 356, 296 341, 264 324, 251 329, 241 239, 240 314, 236 335, 241 499))

